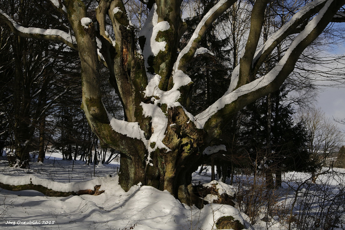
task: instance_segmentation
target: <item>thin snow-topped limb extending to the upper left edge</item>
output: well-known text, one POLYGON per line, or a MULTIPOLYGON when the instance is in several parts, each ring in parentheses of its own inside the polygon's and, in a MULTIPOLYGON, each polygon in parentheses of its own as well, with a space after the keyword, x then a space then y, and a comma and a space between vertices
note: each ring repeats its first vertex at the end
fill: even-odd
POLYGON ((58 29, 41 29, 34 27, 22 27, 14 22, 10 16, 0 9, 0 19, 2 19, 18 36, 24 38, 34 38, 50 41, 62 41, 72 49, 77 50, 76 39, 70 33, 58 29))

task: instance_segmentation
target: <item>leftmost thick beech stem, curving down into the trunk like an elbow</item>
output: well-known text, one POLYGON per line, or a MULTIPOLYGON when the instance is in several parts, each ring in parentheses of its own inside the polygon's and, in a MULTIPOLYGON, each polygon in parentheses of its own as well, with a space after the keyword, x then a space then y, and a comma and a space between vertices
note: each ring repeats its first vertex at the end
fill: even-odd
MULTIPOLYGON (((121 126, 131 126, 129 122, 123 122, 119 126, 110 126, 110 119, 102 102, 100 74, 98 70, 97 42, 93 23, 85 28, 81 19, 86 18, 86 8, 80 1, 65 0, 68 18, 78 42, 79 57, 81 61, 82 105, 86 118, 92 131, 98 136, 103 146, 117 149, 128 155, 133 148, 145 154, 145 145, 140 136, 140 129, 132 129, 130 133, 121 132, 121 126), (136 138, 139 135, 139 138, 136 138)), ((139 92, 140 93, 140 92, 139 92)), ((132 123, 138 127, 137 123, 132 123)), ((126 127, 127 127, 126 126, 126 127)), ((142 135, 143 136, 143 135, 142 135)), ((144 138, 145 139, 145 138, 144 138)))

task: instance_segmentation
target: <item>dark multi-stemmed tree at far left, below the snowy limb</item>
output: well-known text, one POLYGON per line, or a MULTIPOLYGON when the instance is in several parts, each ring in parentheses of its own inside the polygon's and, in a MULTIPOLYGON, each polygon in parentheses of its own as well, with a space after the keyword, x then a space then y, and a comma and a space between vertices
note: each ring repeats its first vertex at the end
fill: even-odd
POLYGON ((61 47, 18 36, 13 36, 9 41, 13 65, 9 72, 4 72, 4 80, 7 82, 2 87, 10 94, 2 100, 2 106, 7 120, 11 120, 8 122, 11 126, 10 135, 13 135, 14 139, 11 144, 21 162, 19 166, 24 163, 22 167, 28 167, 35 129, 42 126, 41 130, 44 130, 48 107, 58 99, 58 88, 54 89, 53 95, 48 96, 46 90, 54 84, 54 78, 51 76, 56 59, 50 51, 54 50, 52 52, 56 53, 61 47))

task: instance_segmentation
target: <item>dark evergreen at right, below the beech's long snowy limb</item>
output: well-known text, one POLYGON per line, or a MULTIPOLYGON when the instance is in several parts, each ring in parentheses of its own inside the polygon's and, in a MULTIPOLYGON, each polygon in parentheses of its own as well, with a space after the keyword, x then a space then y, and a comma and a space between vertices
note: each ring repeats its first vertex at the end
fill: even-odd
POLYGON ((281 185, 282 172, 310 172, 316 167, 307 151, 307 133, 303 121, 294 124, 294 109, 290 104, 283 103, 287 94, 284 86, 272 93, 273 108, 269 131, 266 125, 267 98, 249 104, 243 110, 247 119, 243 126, 243 136, 239 137, 253 165, 276 174, 276 186, 281 185), (267 135, 270 138, 267 138, 267 135))

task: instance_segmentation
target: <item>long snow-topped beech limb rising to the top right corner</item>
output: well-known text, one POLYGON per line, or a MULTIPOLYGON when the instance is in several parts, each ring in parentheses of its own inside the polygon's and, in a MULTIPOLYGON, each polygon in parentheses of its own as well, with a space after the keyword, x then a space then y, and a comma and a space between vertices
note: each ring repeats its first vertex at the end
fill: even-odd
MULTIPOLYGON (((325 6, 298 34, 283 58, 264 77, 245 84, 236 90, 226 92, 225 95, 196 117, 209 133, 210 140, 220 134, 221 127, 230 119, 231 115, 245 105, 277 90, 289 74, 294 70, 300 54, 327 27, 329 21, 345 1, 327 1, 325 6)), ((239 67, 241 68, 241 67, 239 67)))

